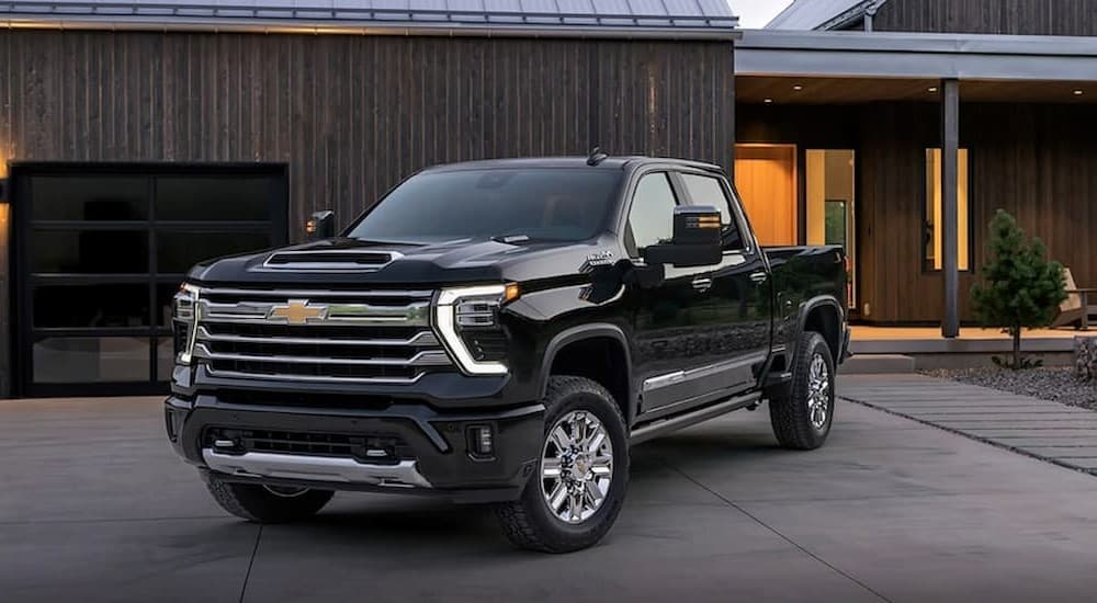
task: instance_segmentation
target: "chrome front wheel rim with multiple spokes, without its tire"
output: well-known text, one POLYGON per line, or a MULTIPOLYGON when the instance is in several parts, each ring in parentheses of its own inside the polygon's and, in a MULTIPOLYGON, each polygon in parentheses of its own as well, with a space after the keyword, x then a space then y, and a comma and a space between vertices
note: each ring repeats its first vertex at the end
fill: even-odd
POLYGON ((541 452, 541 493, 558 519, 578 524, 606 500, 613 479, 613 443, 601 421, 585 410, 562 417, 541 452))

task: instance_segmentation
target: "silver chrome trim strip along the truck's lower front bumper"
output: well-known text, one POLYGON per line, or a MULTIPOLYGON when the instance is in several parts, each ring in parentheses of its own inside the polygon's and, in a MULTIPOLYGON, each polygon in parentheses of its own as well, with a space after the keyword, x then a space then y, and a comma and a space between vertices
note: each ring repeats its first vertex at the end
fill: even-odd
POLYGON ((415 460, 370 465, 353 458, 294 454, 222 454, 203 448, 202 458, 215 471, 245 477, 304 479, 339 483, 369 483, 386 488, 432 488, 415 460))

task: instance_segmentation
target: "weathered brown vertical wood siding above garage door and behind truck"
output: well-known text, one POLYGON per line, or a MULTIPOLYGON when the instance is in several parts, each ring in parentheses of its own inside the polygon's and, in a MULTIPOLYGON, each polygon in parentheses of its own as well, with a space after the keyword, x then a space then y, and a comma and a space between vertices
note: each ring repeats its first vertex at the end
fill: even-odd
MULTIPOLYGON (((731 43, 0 32, 0 161, 278 161, 290 224, 426 166, 731 162, 731 43)), ((294 232, 295 235, 295 232, 294 232)))

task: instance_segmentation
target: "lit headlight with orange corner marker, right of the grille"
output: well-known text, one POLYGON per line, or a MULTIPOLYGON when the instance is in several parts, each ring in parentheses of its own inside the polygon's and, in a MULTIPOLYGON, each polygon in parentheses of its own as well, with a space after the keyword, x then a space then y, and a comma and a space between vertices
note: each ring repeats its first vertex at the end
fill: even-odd
POLYGON ((434 326, 462 371, 470 375, 507 373, 499 308, 519 295, 514 284, 442 289, 434 308, 434 326))

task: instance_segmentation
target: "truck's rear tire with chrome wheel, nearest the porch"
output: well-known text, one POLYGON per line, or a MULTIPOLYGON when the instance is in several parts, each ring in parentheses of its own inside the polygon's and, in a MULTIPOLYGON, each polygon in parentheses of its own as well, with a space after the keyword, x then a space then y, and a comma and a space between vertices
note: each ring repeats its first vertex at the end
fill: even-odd
POLYGON ((769 401, 769 420, 781 446, 813 451, 826 442, 834 422, 834 384, 830 348, 819 333, 805 331, 796 344, 792 395, 769 401))

